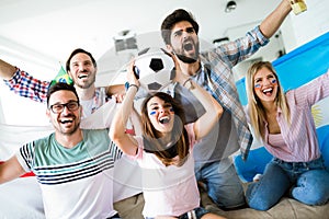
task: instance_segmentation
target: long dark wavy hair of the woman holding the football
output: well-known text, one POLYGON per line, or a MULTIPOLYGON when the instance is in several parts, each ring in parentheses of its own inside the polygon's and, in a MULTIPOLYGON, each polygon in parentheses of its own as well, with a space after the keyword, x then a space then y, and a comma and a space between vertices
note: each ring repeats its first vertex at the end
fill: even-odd
POLYGON ((190 142, 188 131, 184 128, 184 108, 177 100, 163 92, 157 92, 148 96, 141 104, 141 123, 146 152, 155 153, 164 165, 173 164, 180 166, 185 162, 185 159, 189 155, 190 142), (174 125, 171 131, 170 142, 161 139, 161 132, 155 129, 149 119, 147 103, 155 96, 172 105, 174 112, 174 125), (175 155, 179 155, 178 160, 173 160, 175 155))

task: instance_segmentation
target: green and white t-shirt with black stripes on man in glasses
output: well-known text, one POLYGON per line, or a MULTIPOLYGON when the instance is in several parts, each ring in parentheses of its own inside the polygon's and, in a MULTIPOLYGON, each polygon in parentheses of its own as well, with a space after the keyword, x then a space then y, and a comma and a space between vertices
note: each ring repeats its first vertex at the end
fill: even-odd
POLYGON ((113 209, 113 168, 122 152, 106 129, 83 131, 73 148, 55 134, 24 145, 16 158, 33 171, 43 193, 46 218, 106 218, 113 209))

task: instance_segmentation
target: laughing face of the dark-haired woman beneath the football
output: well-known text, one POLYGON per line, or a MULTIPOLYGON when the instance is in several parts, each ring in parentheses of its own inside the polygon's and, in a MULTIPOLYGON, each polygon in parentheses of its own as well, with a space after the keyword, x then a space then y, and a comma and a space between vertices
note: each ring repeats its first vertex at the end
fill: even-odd
POLYGON ((158 96, 151 97, 147 103, 148 117, 156 130, 166 134, 173 127, 174 112, 170 103, 158 96))

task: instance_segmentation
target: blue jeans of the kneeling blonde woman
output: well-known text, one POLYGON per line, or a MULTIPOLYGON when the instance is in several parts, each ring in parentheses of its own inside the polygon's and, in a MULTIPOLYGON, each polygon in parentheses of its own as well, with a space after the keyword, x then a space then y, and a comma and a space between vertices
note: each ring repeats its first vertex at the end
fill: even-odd
POLYGON ((251 183, 246 193, 249 206, 268 210, 284 194, 307 205, 324 205, 329 199, 329 172, 324 159, 309 162, 285 162, 274 158, 259 182, 251 183))

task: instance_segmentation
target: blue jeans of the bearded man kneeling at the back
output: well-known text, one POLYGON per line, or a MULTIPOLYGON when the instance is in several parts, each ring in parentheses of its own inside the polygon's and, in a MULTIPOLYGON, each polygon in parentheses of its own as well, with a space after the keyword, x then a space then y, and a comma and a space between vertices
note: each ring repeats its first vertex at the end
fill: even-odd
POLYGON ((243 187, 232 162, 226 158, 212 163, 195 163, 196 180, 206 185, 212 200, 224 209, 246 204, 243 187))

